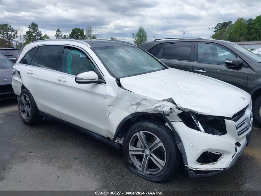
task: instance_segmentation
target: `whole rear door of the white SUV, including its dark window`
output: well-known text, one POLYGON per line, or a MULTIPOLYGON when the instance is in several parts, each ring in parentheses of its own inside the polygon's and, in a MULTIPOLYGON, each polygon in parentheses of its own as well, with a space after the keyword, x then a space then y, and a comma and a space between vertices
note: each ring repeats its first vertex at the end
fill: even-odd
POLYGON ((18 66, 23 85, 32 94, 38 109, 58 118, 60 116, 55 96, 57 73, 54 70, 57 67, 59 47, 40 46, 33 48, 21 60, 20 63, 23 64, 18 66), (37 67, 39 59, 46 68, 37 67))

